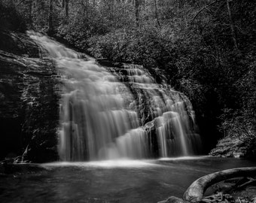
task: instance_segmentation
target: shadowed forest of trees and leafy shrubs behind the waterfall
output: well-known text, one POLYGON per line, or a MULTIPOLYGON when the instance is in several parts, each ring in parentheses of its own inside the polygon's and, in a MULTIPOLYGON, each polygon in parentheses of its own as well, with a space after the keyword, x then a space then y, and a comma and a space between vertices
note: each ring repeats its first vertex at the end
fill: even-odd
POLYGON ((224 138, 255 156, 254 1, 0 2, 2 47, 6 32, 33 29, 95 58, 144 65, 190 98, 205 153, 224 138))

